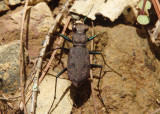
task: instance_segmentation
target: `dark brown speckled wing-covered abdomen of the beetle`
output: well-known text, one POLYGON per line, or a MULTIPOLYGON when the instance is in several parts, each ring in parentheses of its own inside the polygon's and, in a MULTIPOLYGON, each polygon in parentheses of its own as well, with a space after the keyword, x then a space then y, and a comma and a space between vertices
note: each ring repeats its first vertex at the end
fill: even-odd
POLYGON ((69 80, 75 86, 80 86, 89 78, 90 59, 88 49, 81 46, 71 48, 67 65, 69 80))

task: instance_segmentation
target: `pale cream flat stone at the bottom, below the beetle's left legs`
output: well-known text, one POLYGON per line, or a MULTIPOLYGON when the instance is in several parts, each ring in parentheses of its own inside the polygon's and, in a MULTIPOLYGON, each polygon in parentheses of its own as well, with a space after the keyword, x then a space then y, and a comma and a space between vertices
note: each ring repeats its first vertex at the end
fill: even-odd
MULTIPOLYGON (((40 93, 37 98, 37 114, 47 114, 54 100, 55 77, 46 75, 39 86, 40 93)), ((56 100, 50 110, 50 114, 70 114, 73 101, 70 98, 69 86, 71 82, 65 79, 58 79, 56 100)), ((27 110, 30 112, 31 100, 27 104, 27 110)))

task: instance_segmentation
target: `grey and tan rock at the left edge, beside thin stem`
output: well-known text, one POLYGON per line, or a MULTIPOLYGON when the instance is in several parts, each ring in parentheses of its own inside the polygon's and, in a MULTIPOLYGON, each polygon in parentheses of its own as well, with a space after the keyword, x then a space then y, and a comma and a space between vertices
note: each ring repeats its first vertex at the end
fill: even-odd
POLYGON ((14 94, 19 88, 20 41, 0 46, 0 79, 3 93, 14 94))

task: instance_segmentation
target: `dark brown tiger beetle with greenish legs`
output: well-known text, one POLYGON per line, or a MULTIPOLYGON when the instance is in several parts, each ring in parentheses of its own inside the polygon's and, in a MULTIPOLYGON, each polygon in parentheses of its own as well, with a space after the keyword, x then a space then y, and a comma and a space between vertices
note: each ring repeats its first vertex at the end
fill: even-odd
POLYGON ((99 67, 102 69, 102 65, 90 64, 89 54, 101 54, 100 52, 88 51, 86 48, 87 42, 91 41, 98 35, 87 37, 86 32, 88 26, 83 24, 81 21, 76 21, 73 25, 73 38, 69 39, 67 36, 60 34, 65 40, 73 43, 71 49, 60 47, 58 49, 63 49, 69 52, 67 68, 64 68, 57 76, 55 83, 55 92, 57 78, 67 71, 68 78, 72 84, 76 87, 80 87, 84 81, 90 77, 90 68, 99 67))

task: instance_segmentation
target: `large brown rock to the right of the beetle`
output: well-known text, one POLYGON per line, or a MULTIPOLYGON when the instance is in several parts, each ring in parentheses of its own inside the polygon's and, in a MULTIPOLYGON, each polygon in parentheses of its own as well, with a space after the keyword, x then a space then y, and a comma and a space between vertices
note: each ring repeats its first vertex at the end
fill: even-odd
POLYGON ((160 63, 150 50, 145 32, 124 25, 112 30, 103 49, 105 61, 113 69, 105 66, 105 71, 111 72, 102 78, 104 103, 113 108, 111 113, 150 112, 160 98, 155 93, 160 92, 160 63))

